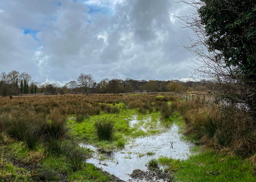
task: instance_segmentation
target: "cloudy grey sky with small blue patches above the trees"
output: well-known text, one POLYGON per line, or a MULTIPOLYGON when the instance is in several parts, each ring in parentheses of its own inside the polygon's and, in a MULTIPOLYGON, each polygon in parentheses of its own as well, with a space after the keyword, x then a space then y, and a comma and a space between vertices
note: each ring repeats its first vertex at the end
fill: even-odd
POLYGON ((0 73, 66 83, 80 73, 108 79, 183 80, 192 56, 172 0, 1 0, 0 73), (182 43, 182 44, 181 44, 182 43))

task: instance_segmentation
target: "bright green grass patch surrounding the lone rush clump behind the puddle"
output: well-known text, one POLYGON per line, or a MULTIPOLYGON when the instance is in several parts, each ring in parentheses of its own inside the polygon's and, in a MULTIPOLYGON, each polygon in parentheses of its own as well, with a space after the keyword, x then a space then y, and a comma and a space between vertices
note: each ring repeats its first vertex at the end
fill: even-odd
MULTIPOLYGON (((124 105, 119 103, 116 104, 116 106, 123 107, 124 105)), ((90 116, 81 123, 75 122, 74 119, 69 120, 68 127, 70 128, 70 135, 76 138, 76 140, 97 145, 98 148, 113 150, 118 148, 122 149, 125 142, 130 137, 153 135, 162 132, 164 126, 158 126, 158 119, 159 112, 141 114, 137 109, 122 109, 119 114, 101 112, 99 115, 90 116), (137 116, 139 122, 131 128, 129 121, 134 115, 137 116), (113 140, 103 141, 97 136, 94 125, 99 120, 113 121, 115 129, 113 140), (141 127, 144 127, 146 131, 143 131, 141 127)))

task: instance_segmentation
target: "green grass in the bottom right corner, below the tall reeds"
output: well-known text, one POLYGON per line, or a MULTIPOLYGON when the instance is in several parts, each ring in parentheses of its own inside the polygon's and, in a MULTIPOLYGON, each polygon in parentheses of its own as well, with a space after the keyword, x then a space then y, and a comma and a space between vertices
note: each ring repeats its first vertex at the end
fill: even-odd
POLYGON ((210 151, 185 161, 162 157, 158 162, 174 172, 174 181, 255 181, 250 162, 210 151))

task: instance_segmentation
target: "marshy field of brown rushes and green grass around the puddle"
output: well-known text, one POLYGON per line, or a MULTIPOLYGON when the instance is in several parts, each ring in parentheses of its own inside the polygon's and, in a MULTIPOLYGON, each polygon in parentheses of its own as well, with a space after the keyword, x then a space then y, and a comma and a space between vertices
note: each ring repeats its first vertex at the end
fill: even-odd
MULTIPOLYGON (((254 179, 255 157, 248 152, 249 146, 235 148, 237 139, 220 132, 224 125, 217 116, 219 109, 215 106, 184 101, 171 94, 1 97, 0 179, 111 181, 114 176, 84 162, 92 151, 80 148, 79 143, 92 144, 105 152, 118 151, 131 138, 161 133, 163 127, 158 125, 168 128, 173 122, 186 134, 185 140, 199 145, 196 151, 202 146, 206 149, 186 161, 159 158, 150 161, 149 166, 165 166, 176 181, 225 181, 230 175, 234 176, 230 181, 254 179), (134 115, 141 121, 150 117, 150 122, 139 122, 131 128, 129 122, 134 115), (141 129, 142 125, 146 129, 141 129)), ((250 150, 254 151, 253 146, 250 150)))

